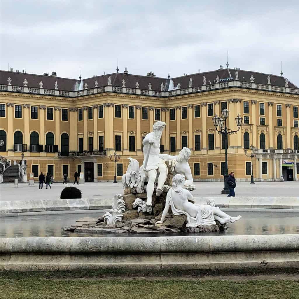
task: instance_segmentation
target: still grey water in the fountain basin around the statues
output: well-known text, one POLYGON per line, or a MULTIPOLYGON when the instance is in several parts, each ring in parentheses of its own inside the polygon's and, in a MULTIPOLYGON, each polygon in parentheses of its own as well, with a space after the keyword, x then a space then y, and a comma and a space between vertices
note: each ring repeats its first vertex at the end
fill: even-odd
MULTIPOLYGON (((298 213, 289 212, 233 212, 232 216, 242 215, 242 219, 228 224, 225 233, 202 233, 197 235, 259 235, 259 234, 299 234, 298 213)), ((82 217, 98 218, 100 213, 35 215, 2 217, 0 219, 0 237, 88 237, 108 236, 107 234, 75 234, 64 232, 62 227, 74 224, 82 217)), ((117 236, 126 236, 119 234, 117 236)), ((171 234, 174 236, 174 234, 171 234)), ((179 234, 182 235, 182 234, 179 234)), ((193 234, 194 235, 194 234, 193 234)), ((110 234, 109 236, 115 236, 110 234)), ((131 236, 141 236, 131 235, 131 236)), ((147 236, 149 236, 147 234, 147 236)), ((158 236, 153 234, 152 236, 158 236)))

